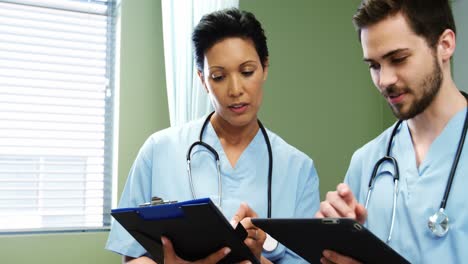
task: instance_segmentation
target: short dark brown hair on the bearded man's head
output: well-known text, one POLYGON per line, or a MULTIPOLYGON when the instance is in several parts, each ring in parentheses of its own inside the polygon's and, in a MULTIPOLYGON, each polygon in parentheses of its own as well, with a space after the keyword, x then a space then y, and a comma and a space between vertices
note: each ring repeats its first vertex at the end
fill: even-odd
POLYGON ((359 40, 363 28, 400 12, 413 32, 432 48, 446 29, 456 32, 449 0, 363 0, 353 16, 359 40))

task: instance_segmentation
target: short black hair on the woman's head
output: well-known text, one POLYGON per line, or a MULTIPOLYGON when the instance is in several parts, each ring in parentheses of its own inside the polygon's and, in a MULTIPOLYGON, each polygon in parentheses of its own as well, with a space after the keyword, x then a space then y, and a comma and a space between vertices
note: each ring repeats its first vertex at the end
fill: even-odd
POLYGON ((195 27, 192 41, 198 70, 203 71, 205 52, 230 37, 252 40, 262 66, 266 66, 268 47, 262 25, 252 13, 230 8, 203 16, 195 27))

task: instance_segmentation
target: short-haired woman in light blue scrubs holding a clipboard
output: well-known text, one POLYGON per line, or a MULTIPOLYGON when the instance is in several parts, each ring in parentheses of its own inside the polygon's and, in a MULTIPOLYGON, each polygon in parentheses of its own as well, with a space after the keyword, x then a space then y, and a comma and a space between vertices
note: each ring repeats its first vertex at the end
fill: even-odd
MULTIPOLYGON (((264 134, 257 119, 269 66, 260 23, 249 12, 218 11, 202 18, 192 39, 198 75, 215 111, 211 116, 151 135, 130 170, 119 207, 135 207, 153 196, 177 201, 210 197, 227 219, 243 202, 260 217, 268 217, 269 202, 271 217, 312 217, 319 205, 318 177, 312 160, 275 133, 264 130, 264 134), (205 121, 206 127, 202 128, 205 121), (219 154, 221 193, 214 155, 201 145, 190 153, 190 184, 186 155, 200 133, 203 142, 219 154)), ((282 245, 270 252, 262 251, 265 234, 258 231, 261 239, 253 237, 250 230, 245 242, 262 263, 302 261, 282 245)), ((163 242, 167 249, 170 241, 163 242)), ((127 263, 154 263, 116 222, 106 248, 123 255, 127 263)), ((203 263, 217 262, 226 253, 220 249, 203 263)), ((184 262, 174 254, 165 257, 172 257, 166 259, 167 263, 184 262)))

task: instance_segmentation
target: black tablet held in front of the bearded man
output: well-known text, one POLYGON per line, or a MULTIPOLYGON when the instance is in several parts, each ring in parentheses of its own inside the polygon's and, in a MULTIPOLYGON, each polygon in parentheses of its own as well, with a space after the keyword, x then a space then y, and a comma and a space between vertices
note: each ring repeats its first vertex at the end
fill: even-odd
POLYGON ((410 263, 351 218, 252 218, 252 223, 310 263, 320 263, 324 249, 362 263, 410 263))

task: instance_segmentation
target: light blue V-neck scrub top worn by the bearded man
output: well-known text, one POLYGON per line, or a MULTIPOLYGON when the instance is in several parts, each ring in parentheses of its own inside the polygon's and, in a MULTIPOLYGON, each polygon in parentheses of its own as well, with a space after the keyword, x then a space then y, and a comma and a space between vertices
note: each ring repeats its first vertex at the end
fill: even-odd
MULTIPOLYGON (((396 218, 390 246, 411 263, 464 263, 468 260, 468 142, 458 163, 445 213, 450 230, 435 237, 428 228, 431 215, 439 210, 447 179, 460 140, 466 109, 458 112, 430 146, 425 160, 416 166, 416 156, 407 122, 400 126, 391 150, 400 170, 396 218)), ((387 150, 393 126, 356 151, 345 182, 360 203, 365 203, 369 179, 377 160, 387 150)), ((386 241, 393 206, 393 166, 381 165, 368 206, 367 227, 386 241)))

